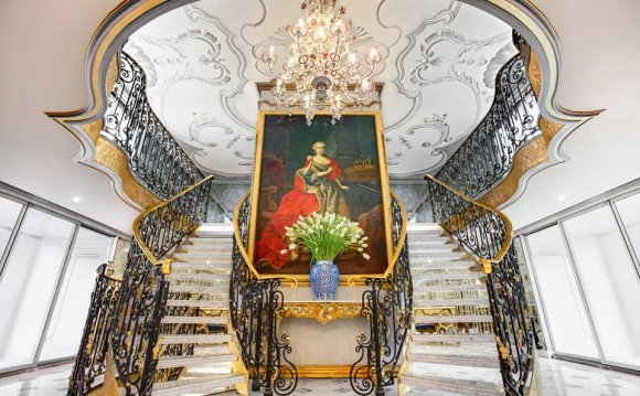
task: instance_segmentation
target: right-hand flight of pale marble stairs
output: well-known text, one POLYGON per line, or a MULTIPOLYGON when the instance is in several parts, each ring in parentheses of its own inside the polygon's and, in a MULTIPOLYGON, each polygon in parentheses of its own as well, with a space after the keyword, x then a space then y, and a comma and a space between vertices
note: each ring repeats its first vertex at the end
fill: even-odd
POLYGON ((438 224, 409 225, 414 328, 399 394, 504 395, 486 275, 438 224))

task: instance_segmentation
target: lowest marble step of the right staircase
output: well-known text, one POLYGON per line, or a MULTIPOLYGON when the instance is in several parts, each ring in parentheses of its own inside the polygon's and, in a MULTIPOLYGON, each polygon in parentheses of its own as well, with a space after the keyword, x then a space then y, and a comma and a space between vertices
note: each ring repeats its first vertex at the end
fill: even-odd
MULTIPOLYGON (((455 395, 467 396, 504 396, 502 384, 489 383, 473 379, 457 379, 440 376, 416 376, 404 375, 401 384, 408 386, 414 394, 414 389, 440 390, 455 395)), ((419 393, 415 393, 418 395, 419 393)))

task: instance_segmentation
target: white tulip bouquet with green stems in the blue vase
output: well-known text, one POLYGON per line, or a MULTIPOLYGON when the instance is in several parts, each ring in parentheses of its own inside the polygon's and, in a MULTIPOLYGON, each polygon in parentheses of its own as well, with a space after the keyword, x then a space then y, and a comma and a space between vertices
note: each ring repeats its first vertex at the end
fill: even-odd
POLYGON ((303 246, 313 256, 313 261, 334 260, 345 250, 359 251, 362 257, 370 259, 364 253, 369 245, 369 237, 355 222, 334 213, 319 214, 313 212, 307 218, 300 216, 290 227, 285 227, 289 238, 289 249, 282 249, 285 255, 298 246, 303 246))

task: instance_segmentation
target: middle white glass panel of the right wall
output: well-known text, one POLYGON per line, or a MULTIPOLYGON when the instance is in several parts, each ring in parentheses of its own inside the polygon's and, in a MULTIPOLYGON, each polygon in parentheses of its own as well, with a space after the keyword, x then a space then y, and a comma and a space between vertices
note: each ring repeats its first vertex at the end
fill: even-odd
POLYGON ((609 206, 564 223, 605 360, 640 367, 640 278, 609 206))

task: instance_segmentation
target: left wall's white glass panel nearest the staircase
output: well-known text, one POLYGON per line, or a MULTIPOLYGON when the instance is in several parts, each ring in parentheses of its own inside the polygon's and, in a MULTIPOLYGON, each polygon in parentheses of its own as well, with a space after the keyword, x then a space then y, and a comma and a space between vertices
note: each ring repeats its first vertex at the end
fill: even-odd
POLYGON ((96 269, 107 260, 113 237, 81 228, 75 238, 39 361, 77 354, 96 269))

